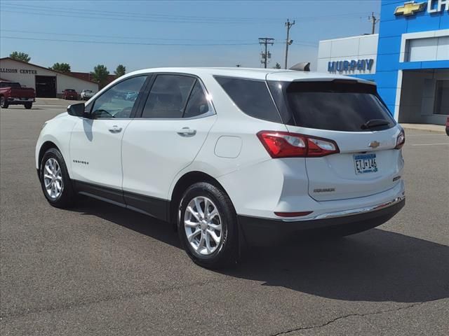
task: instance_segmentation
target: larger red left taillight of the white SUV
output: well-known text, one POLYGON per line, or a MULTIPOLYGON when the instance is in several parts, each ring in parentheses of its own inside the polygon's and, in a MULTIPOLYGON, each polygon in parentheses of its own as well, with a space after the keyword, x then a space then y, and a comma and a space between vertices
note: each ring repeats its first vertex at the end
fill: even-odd
POLYGON ((317 158, 340 153, 335 141, 304 134, 260 131, 257 137, 272 158, 317 158))

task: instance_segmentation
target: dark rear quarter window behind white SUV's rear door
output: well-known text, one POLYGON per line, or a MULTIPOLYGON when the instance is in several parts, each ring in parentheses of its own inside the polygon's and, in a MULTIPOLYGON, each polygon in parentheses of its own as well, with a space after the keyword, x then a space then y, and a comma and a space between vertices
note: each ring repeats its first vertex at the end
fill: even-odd
POLYGON ((243 113, 254 118, 281 123, 281 117, 264 80, 218 76, 215 76, 215 79, 243 113))

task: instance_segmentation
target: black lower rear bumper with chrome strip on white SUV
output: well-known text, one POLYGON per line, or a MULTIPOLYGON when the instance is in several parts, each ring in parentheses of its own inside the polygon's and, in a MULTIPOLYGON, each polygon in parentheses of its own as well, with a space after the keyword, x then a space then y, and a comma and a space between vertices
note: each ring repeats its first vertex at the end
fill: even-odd
POLYGON ((282 221, 279 219, 238 216, 243 236, 251 246, 270 246, 294 240, 304 232, 357 232, 369 230, 387 222, 406 204, 406 197, 377 204, 375 207, 351 209, 318 216, 308 221, 282 221))

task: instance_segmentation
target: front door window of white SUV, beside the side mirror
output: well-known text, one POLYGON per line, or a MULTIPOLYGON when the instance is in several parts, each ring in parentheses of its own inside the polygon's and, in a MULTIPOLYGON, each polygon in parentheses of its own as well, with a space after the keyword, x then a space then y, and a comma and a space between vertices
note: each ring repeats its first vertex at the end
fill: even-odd
POLYGON ((93 118, 130 118, 147 76, 128 78, 103 92, 93 103, 93 118))

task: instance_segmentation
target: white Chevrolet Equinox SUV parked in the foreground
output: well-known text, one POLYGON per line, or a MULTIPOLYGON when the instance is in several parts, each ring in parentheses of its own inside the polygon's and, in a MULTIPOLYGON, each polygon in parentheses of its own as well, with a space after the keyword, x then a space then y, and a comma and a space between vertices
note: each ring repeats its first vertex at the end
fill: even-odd
POLYGON ((243 243, 368 230, 405 204, 404 132, 366 80, 147 69, 67 112, 36 145, 48 202, 82 194, 174 223, 205 267, 236 262, 243 243))

